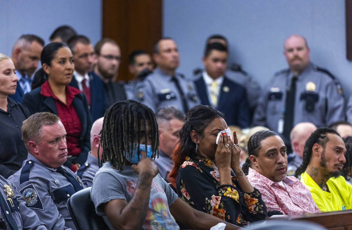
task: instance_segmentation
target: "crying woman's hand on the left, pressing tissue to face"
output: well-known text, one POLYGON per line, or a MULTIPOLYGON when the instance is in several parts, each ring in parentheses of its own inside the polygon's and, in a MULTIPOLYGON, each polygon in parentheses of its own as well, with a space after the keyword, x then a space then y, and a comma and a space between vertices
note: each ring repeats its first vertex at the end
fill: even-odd
POLYGON ((231 139, 227 137, 226 133, 222 133, 220 135, 219 141, 218 141, 218 147, 216 147, 215 151, 215 162, 216 162, 216 167, 218 169, 220 168, 225 168, 225 167, 231 167, 231 144, 230 144, 231 139), (228 147, 225 145, 229 145, 228 147))

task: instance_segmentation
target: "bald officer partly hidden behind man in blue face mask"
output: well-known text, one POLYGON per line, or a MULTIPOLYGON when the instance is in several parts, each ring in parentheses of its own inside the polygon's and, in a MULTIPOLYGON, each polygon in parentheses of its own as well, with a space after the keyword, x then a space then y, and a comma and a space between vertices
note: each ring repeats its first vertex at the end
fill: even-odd
MULTIPOLYGON (((77 175, 87 187, 92 186, 95 173, 99 170, 98 147, 103 119, 104 117, 101 117, 93 123, 92 129, 90 129, 90 152, 88 153, 87 161, 77 171, 77 175)), ((103 150, 100 146, 99 154, 101 155, 102 152, 103 150)))

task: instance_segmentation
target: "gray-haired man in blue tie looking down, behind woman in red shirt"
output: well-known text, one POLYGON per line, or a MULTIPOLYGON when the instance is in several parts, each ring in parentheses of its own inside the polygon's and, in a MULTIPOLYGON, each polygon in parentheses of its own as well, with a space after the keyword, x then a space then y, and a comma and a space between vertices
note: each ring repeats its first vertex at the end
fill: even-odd
POLYGON ((21 102, 23 95, 31 91, 31 76, 38 68, 43 47, 43 39, 33 34, 22 35, 14 44, 11 59, 18 81, 16 92, 10 97, 15 101, 21 102))

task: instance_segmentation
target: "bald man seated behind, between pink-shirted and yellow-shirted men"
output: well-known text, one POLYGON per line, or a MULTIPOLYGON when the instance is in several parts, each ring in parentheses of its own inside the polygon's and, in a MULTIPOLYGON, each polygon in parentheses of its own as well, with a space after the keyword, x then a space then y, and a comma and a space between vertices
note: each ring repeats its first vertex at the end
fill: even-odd
POLYGON ((316 126, 310 122, 301 122, 295 125, 290 133, 290 141, 292 151, 288 157, 287 175, 295 175, 296 169, 302 164, 304 144, 308 140, 310 134, 316 130, 316 126))

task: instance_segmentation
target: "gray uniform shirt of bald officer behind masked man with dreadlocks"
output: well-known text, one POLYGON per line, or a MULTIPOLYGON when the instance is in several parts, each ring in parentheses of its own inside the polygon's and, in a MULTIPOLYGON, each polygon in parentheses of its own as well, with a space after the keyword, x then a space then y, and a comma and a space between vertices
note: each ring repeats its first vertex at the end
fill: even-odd
POLYGON ((91 187, 93 184, 93 178, 98 170, 98 158, 90 154, 89 151, 87 161, 77 170, 77 175, 81 178, 86 187, 91 187))

